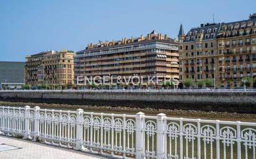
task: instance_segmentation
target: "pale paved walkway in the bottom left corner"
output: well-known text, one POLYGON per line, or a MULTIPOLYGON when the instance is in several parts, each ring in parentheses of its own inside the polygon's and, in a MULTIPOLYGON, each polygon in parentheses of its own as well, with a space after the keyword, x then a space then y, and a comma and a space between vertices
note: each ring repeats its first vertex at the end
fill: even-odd
POLYGON ((7 150, 0 152, 1 159, 96 159, 104 158, 97 155, 91 155, 68 148, 54 147, 51 145, 32 142, 30 140, 16 139, 0 135, 0 144, 19 147, 16 150, 7 150))

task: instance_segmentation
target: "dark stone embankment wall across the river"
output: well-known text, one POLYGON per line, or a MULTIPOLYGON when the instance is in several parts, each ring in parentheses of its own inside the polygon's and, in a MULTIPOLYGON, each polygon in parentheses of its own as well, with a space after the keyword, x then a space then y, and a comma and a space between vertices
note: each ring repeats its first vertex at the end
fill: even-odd
POLYGON ((0 92, 0 100, 256 113, 256 92, 0 92))

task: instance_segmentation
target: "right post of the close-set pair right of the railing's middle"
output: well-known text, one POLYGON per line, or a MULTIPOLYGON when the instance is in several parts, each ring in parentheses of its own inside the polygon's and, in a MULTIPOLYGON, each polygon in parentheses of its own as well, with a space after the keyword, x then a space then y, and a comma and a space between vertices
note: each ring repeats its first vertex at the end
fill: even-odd
POLYGON ((165 114, 157 114, 157 159, 165 157, 165 118, 165 114))

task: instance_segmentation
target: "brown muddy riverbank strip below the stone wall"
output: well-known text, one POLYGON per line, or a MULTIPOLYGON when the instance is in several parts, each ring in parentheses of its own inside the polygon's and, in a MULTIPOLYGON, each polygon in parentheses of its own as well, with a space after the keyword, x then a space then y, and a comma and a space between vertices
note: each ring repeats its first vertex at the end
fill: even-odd
POLYGON ((247 121, 256 122, 256 114, 247 113, 227 113, 216 111, 194 111, 194 110, 167 110, 155 108, 134 108, 127 106, 96 106, 96 105, 67 105, 55 103, 32 103, 32 102, 10 102, 0 101, 0 106, 40 106, 40 108, 62 109, 62 110, 77 110, 78 108, 84 111, 94 111, 103 113, 121 113, 135 114, 143 112, 147 115, 155 115, 159 113, 167 114, 167 116, 178 118, 199 118, 199 119, 218 119, 226 121, 247 121))

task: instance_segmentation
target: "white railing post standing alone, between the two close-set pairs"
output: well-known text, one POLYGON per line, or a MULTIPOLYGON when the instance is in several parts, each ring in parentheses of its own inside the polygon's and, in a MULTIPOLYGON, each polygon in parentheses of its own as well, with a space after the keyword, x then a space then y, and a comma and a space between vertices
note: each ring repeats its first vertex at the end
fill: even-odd
POLYGON ((83 110, 76 110, 76 147, 75 150, 83 148, 83 110))

